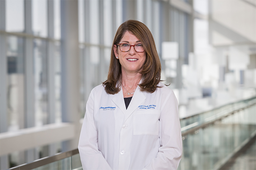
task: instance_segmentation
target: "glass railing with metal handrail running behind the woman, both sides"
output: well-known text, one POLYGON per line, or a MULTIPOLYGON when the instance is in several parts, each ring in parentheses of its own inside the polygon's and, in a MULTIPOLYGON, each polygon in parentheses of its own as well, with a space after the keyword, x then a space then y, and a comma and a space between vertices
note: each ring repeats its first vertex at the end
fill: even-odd
MULTIPOLYGON (((255 110, 256 97, 253 97, 181 119, 183 155, 178 169, 220 169, 234 153, 255 136, 255 110), (191 124, 193 126, 188 128, 191 124)), ((76 149, 10 170, 22 169, 82 170, 82 166, 76 149)))

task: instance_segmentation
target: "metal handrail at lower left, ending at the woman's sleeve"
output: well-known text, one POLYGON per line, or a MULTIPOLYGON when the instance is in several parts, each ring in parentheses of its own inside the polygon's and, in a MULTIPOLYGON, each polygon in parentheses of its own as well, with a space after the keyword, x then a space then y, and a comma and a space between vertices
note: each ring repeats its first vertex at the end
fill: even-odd
POLYGON ((38 160, 35 160, 31 163, 26 163, 26 164, 22 164, 13 168, 10 168, 8 170, 29 170, 29 169, 35 169, 38 168, 40 166, 61 160, 61 159, 65 159, 67 157, 73 156, 79 154, 78 149, 74 149, 74 150, 70 150, 67 152, 62 152, 62 153, 57 153, 53 156, 48 156, 48 157, 44 157, 38 160))

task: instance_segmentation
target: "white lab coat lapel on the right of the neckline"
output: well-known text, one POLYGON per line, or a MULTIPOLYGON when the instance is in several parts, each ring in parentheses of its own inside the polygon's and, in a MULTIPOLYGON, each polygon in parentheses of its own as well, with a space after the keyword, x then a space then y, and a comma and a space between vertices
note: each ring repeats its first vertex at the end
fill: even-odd
POLYGON ((132 96, 131 103, 129 104, 127 111, 124 116, 124 122, 128 119, 129 116, 140 106, 140 104, 146 99, 143 92, 140 90, 140 87, 138 86, 135 90, 134 95, 132 96))

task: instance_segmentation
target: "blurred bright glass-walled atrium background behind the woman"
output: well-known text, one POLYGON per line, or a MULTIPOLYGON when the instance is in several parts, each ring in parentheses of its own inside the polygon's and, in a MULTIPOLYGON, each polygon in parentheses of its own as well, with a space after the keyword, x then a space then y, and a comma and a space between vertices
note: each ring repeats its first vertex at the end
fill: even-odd
POLYGON ((0 169, 77 148, 128 19, 150 29, 179 102, 179 169, 220 169, 255 141, 255 0, 0 0, 0 169))

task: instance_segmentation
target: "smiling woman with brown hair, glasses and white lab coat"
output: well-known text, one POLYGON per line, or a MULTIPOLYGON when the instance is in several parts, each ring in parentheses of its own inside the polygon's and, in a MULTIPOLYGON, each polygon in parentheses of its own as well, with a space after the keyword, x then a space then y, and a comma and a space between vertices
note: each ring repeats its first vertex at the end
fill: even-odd
POLYGON ((182 154, 177 100, 160 82, 150 30, 128 20, 116 31, 108 79, 86 105, 79 140, 84 170, 174 170, 182 154))

